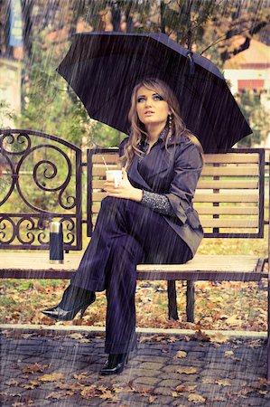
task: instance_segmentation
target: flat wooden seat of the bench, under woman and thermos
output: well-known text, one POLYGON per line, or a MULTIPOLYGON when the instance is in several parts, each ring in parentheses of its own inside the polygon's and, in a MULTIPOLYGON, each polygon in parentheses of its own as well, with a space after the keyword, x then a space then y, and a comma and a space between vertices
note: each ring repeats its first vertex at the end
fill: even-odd
MULTIPOLYGON (((82 253, 65 254, 63 264, 50 264, 49 252, 1 252, 0 278, 69 279, 82 253), (31 277, 32 276, 32 277, 31 277)), ((257 281, 268 276, 256 256, 196 255, 185 264, 139 264, 138 279, 236 279, 257 281)))

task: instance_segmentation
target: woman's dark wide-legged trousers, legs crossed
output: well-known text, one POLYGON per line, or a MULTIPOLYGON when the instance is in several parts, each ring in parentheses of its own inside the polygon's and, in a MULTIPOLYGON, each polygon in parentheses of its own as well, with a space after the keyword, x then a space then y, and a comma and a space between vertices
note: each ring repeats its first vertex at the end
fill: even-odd
POLYGON ((159 213, 134 201, 107 197, 71 284, 107 295, 105 352, 136 346, 135 286, 138 263, 185 263, 189 247, 159 213))

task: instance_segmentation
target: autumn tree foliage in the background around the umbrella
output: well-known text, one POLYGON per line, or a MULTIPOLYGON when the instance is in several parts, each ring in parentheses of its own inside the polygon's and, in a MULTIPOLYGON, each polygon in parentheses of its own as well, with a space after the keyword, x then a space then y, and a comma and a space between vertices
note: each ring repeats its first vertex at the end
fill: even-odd
MULTIPOLYGON (((2 49, 7 35, 7 5, 7 0, 0 0, 1 14, 6 17, 2 49)), ((77 146, 88 146, 92 140, 97 145, 116 146, 125 136, 88 118, 74 92, 55 71, 73 33, 167 33, 215 62, 221 71, 228 59, 248 48, 252 38, 268 44, 270 38, 268 0, 22 0, 22 5, 23 110, 15 125, 65 137, 77 146), (243 36, 243 43, 236 49, 237 35, 243 36)), ((268 123, 259 97, 246 93, 238 99, 255 129, 255 137, 247 138, 244 144, 264 140, 268 123)))

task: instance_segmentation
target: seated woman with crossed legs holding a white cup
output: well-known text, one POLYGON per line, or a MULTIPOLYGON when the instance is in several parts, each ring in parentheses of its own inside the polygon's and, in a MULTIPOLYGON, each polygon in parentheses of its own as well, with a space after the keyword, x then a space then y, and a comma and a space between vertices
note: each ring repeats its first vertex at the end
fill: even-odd
POLYGON ((61 303, 43 313, 70 320, 106 289, 105 352, 101 374, 119 374, 136 347, 138 263, 184 263, 202 239, 192 208, 202 169, 198 140, 185 128, 178 101, 162 80, 143 80, 133 91, 131 136, 120 144, 123 180, 105 182, 92 239, 61 303), (125 166, 125 167, 124 167, 125 166))

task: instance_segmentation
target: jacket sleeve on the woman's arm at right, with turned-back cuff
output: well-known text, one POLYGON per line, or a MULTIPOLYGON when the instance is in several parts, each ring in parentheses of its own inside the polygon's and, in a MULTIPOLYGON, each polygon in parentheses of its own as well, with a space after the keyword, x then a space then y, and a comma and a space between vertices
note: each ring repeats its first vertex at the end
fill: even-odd
POLYGON ((193 228, 200 226, 198 213, 192 207, 192 198, 202 170, 199 147, 188 140, 175 152, 173 178, 169 194, 166 194, 172 210, 180 222, 188 222, 193 228))

